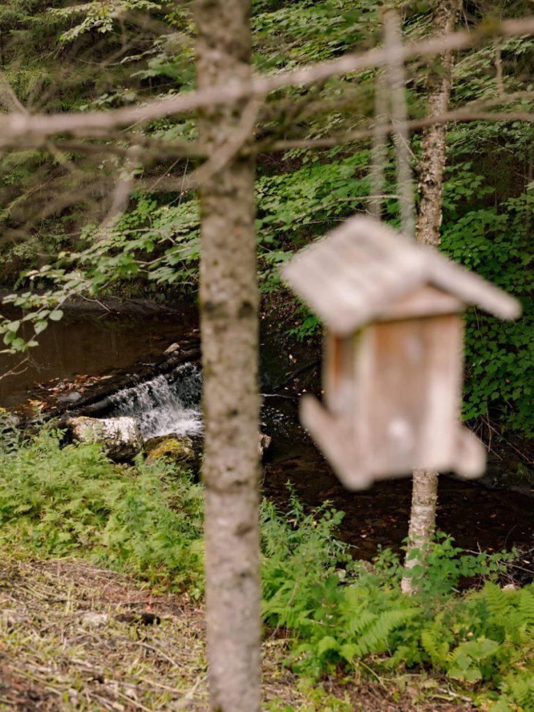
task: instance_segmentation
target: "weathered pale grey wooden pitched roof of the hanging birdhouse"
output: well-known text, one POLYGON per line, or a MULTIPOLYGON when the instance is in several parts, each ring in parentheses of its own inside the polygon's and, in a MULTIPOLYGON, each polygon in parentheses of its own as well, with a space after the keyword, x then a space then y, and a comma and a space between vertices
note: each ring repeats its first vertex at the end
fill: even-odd
POLYGON ((431 285, 501 319, 520 305, 511 295, 381 222, 354 216, 303 249, 283 280, 339 335, 387 314, 395 301, 431 285))

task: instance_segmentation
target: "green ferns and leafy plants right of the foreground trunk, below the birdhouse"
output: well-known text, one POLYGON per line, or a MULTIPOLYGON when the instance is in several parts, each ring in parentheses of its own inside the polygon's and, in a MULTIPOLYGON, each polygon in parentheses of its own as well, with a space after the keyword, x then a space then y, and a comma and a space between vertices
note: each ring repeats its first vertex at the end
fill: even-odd
POLYGON ((501 590, 491 580, 510 555, 469 555, 439 535, 407 597, 399 556, 385 550, 374 567, 352 560, 333 538, 340 517, 327 506, 305 515, 294 499, 288 518, 263 511, 263 614, 293 633, 296 671, 431 666, 473 699, 498 701, 496 711, 533 709, 534 586, 501 590), (459 593, 463 576, 483 586, 459 593))

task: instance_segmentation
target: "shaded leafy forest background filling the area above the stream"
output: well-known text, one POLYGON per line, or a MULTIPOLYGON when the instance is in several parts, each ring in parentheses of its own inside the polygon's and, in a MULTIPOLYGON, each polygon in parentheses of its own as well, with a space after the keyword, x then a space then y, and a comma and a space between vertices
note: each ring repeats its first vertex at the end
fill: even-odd
MULTIPOLYGON (((380 39, 381 9, 368 0, 255 0, 252 6, 259 72, 335 58, 380 39)), ((401 9, 406 42, 431 33, 424 2, 401 9)), ((522 2, 466 3, 461 25, 520 17, 528 9, 522 2)), ((512 324, 474 309, 468 313, 464 417, 478 419, 486 436, 493 429, 534 435, 533 59, 534 38, 490 39, 459 53, 454 66, 451 110, 506 110, 507 118, 449 124, 441 248, 516 295, 524 307, 512 324)), ((0 67, 7 80, 0 84, 4 110, 105 111, 194 88, 190 6, 149 0, 4 2, 0 67)), ((425 115, 428 71, 428 62, 409 63, 412 119, 425 115)), ((256 117, 261 288, 265 303, 280 310, 288 332, 300 339, 315 337, 318 323, 283 290, 277 268, 293 251, 367 209, 375 80, 375 70, 369 70, 273 93, 256 117), (367 135, 342 146, 328 138, 358 131, 367 135)), ((187 175, 195 157, 173 155, 172 142, 196 137, 194 117, 171 117, 133 125, 112 138, 58 137, 38 140, 31 150, 4 150, 4 288, 194 299, 199 209, 187 175), (133 192, 114 211, 117 171, 133 192)), ((414 170, 419 139, 414 132, 414 170)), ((392 146, 386 179, 384 219, 398 225, 392 146)), ((8 346, 17 338, 16 330, 4 328, 8 346)))

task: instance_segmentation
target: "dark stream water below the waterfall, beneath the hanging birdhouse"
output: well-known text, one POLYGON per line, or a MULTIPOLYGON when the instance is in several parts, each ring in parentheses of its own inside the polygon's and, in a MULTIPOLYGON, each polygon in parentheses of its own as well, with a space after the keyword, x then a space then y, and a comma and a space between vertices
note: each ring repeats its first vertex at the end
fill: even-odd
MULTIPOLYGON (((266 464, 266 494, 284 506, 285 485, 290 481, 300 500, 310 506, 330 500, 345 512, 342 538, 355 546, 359 557, 374 556, 377 544, 398 548, 408 532, 411 479, 386 480, 365 491, 347 492, 300 428, 296 404, 285 399, 274 404, 275 400, 268 399, 263 414, 266 430, 276 433, 266 464), (269 422, 273 422, 271 428, 269 422)), ((534 499, 441 476, 437 523, 468 550, 512 546, 529 550, 534 545, 534 499)))

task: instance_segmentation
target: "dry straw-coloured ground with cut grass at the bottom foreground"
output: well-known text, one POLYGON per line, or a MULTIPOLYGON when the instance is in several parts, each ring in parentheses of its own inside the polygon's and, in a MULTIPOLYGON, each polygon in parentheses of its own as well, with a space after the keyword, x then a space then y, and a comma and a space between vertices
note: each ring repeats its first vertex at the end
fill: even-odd
MULTIPOLYGON (((207 709, 203 611, 83 560, 0 551, 0 710, 207 709), (152 622, 151 622, 152 621, 152 622)), ((263 648, 263 709, 466 712, 443 681, 305 683, 283 664, 280 632, 263 648)))

